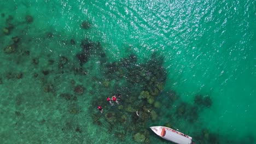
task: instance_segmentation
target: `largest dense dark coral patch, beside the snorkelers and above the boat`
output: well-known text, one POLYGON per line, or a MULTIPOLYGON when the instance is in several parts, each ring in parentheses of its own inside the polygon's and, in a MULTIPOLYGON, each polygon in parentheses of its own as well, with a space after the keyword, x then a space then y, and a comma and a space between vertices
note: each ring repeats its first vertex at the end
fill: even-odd
MULTIPOLYGON (((134 131, 132 132, 133 140, 147 143, 149 129, 146 125, 147 122, 154 122, 159 118, 158 109, 161 103, 155 99, 163 91, 166 81, 166 71, 162 63, 163 58, 157 53, 153 53, 145 63, 137 63, 134 53, 121 58, 120 61, 102 63, 101 72, 106 77, 102 80, 102 85, 109 88, 115 81, 110 91, 112 94, 121 93, 122 96, 119 105, 114 104, 116 109, 105 110, 104 118, 97 118, 95 114, 92 114, 95 124, 107 121, 109 130, 115 129, 116 131, 118 131, 116 125, 121 125, 122 129, 127 130, 118 131, 118 133, 126 134, 127 131, 134 131), (122 82, 121 86, 119 82, 122 82)), ((107 96, 110 97, 110 95, 107 96)), ((98 101, 102 99, 95 98, 94 104, 97 105, 98 101)), ((107 101, 102 106, 110 107, 107 101)))

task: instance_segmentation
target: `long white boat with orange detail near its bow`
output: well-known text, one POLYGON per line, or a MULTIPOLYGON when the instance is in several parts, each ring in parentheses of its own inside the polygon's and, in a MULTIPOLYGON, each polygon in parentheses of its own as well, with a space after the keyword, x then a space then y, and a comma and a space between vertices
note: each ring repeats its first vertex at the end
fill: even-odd
POLYGON ((159 135, 160 137, 168 141, 172 141, 179 144, 194 143, 192 141, 192 137, 171 128, 156 126, 156 127, 150 127, 150 129, 152 129, 155 132, 155 134, 159 135))

